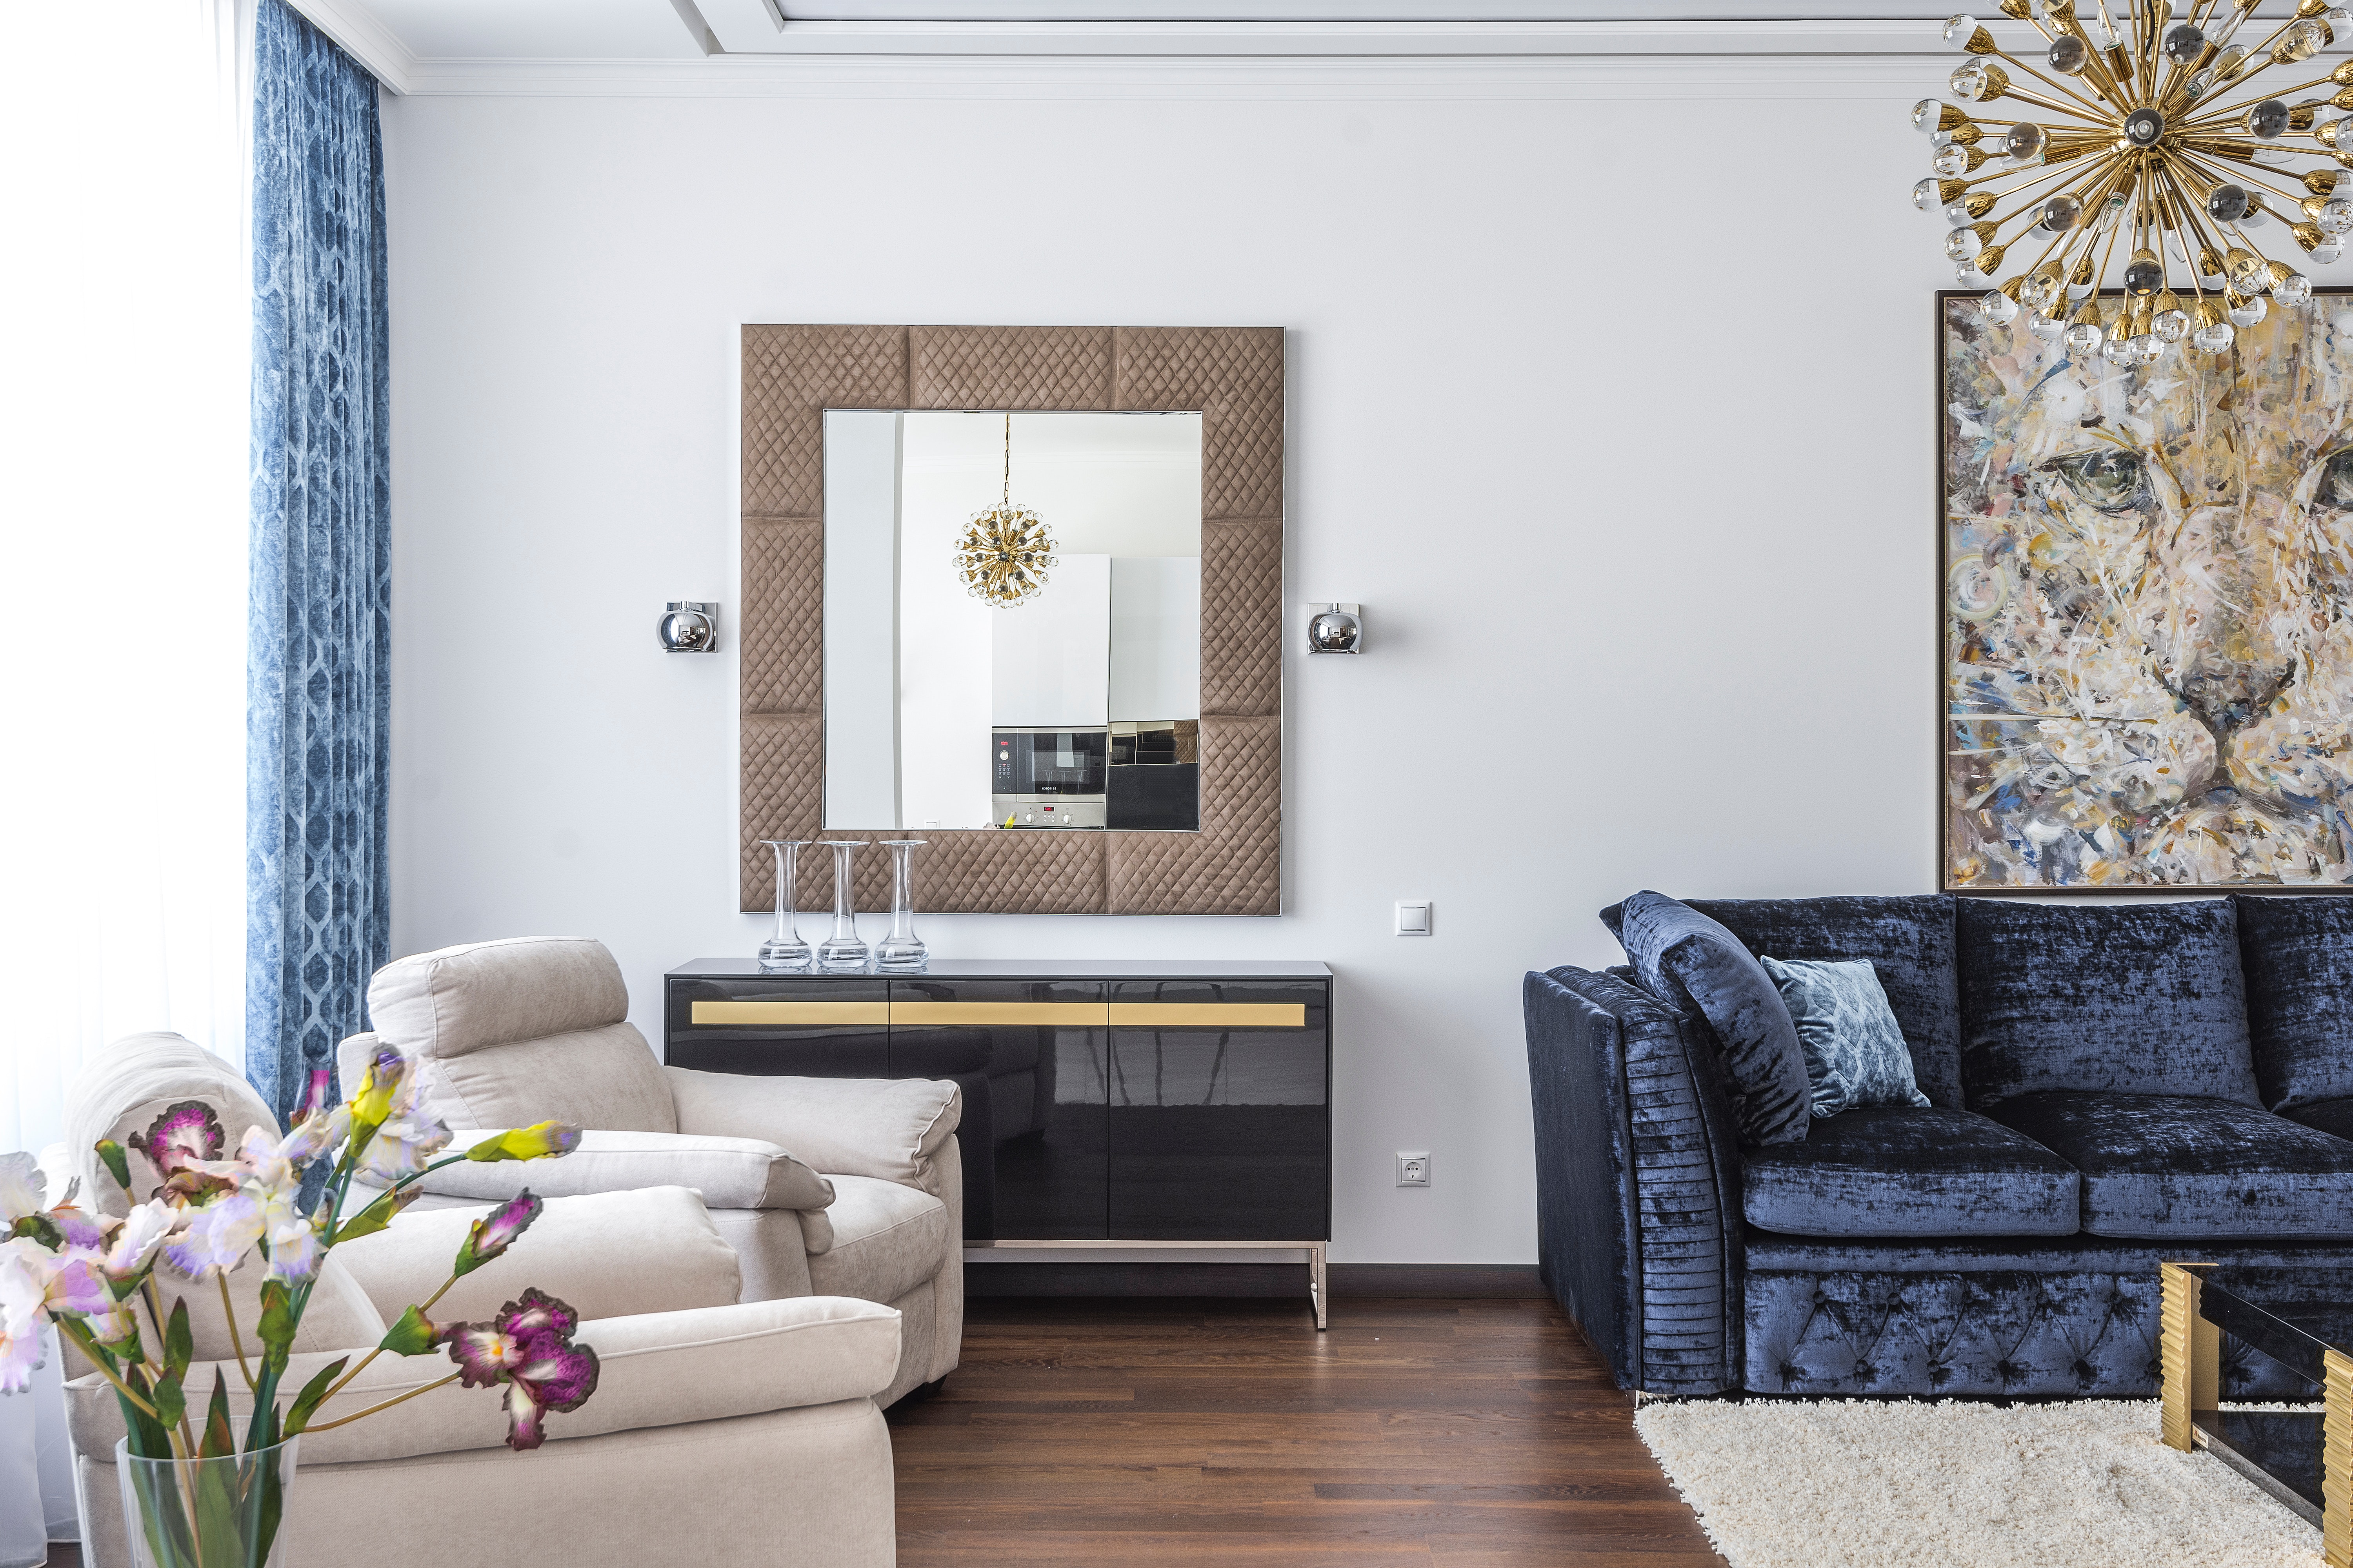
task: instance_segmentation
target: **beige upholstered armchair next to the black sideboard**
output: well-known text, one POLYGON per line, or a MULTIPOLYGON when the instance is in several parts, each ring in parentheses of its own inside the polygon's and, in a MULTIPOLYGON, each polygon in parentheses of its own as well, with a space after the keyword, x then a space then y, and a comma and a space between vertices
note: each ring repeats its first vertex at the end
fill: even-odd
POLYGON ((358 1084, 381 1044, 419 1058, 421 1105, 454 1147, 555 1119, 588 1128, 560 1161, 454 1166, 428 1204, 692 1187, 734 1246, 744 1300, 856 1295, 899 1312, 880 1403, 955 1368, 965 1215, 955 1084, 687 1072, 654 1060, 602 943, 527 936, 419 952, 367 987, 369 1034, 341 1046, 358 1084))

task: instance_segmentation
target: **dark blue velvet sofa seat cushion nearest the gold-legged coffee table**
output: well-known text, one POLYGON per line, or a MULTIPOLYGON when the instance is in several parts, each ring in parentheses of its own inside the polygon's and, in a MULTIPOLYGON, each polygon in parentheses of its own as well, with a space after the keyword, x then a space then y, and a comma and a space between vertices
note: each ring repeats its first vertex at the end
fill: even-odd
POLYGON ((2353 1239, 2353 1143, 2266 1110, 2059 1088, 1988 1114, 2082 1171, 2094 1237, 2353 1239))

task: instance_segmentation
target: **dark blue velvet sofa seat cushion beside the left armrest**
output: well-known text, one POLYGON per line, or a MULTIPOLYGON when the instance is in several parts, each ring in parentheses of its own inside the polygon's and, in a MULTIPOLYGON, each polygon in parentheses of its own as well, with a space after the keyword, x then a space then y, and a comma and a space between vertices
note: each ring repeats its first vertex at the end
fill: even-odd
POLYGON ((1873 1105, 1741 1157, 1741 1213, 1786 1237, 2073 1237, 2075 1168, 2000 1121, 1873 1105))

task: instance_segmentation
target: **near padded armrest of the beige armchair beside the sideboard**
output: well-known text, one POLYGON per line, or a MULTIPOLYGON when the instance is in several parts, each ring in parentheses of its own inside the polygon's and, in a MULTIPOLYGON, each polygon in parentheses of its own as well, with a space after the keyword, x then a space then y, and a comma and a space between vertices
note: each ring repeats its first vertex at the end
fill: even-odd
MULTIPOLYGON (((464 1150, 504 1128, 459 1131, 464 1150)), ((631 1187, 694 1187, 706 1208, 824 1208, 833 1187, 774 1143, 687 1133, 612 1133, 591 1128, 562 1159, 449 1166, 416 1182, 442 1197, 511 1199, 525 1187, 539 1197, 628 1192, 631 1187)))

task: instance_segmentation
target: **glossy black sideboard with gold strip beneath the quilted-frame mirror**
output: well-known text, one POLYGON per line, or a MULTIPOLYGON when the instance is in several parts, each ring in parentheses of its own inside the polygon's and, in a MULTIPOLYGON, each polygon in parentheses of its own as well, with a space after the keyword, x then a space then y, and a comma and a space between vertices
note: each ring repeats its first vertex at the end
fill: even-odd
POLYGON ((1318 1326, 1332 1237, 1322 964, 934 961, 666 976, 664 1060, 953 1079, 972 1246, 1292 1246, 1318 1326))

